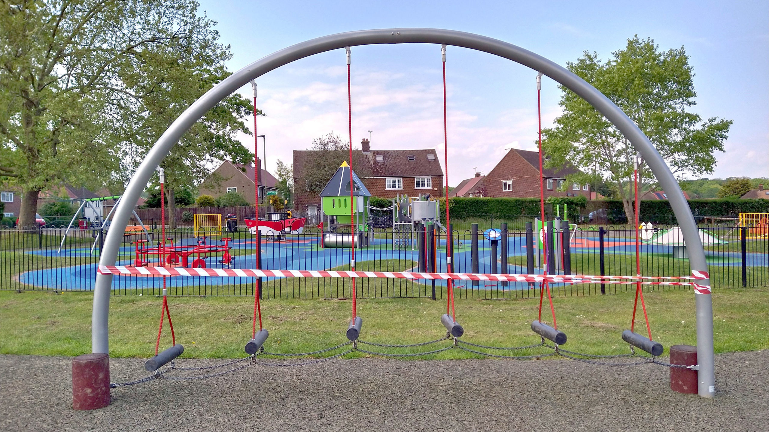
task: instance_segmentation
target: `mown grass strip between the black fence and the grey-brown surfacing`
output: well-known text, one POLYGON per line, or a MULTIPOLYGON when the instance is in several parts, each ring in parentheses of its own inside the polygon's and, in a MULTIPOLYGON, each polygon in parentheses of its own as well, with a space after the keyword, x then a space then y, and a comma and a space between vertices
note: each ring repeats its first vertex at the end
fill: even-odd
MULTIPOLYGON (((767 287, 714 290, 715 351, 769 348, 767 287)), ((654 339, 671 344, 696 344, 694 294, 654 291, 645 294, 654 339)), ((183 357, 242 357, 251 337, 253 300, 248 297, 170 297, 171 316, 183 357)), ((558 327, 568 334, 565 347, 592 354, 621 354, 627 344, 632 293, 556 297, 558 327)), ((545 301, 547 304, 547 301, 545 301)), ((150 357, 160 317, 161 298, 112 297, 110 349, 113 357, 150 357)), ((380 343, 417 343, 445 335, 439 323, 444 301, 361 299, 361 339, 380 343)), ((481 301, 458 299, 458 321, 465 341, 495 346, 538 342, 531 332, 538 299, 481 301)), ((74 356, 90 351, 92 294, 0 291, 0 353, 74 356)), ((262 301, 265 347, 275 352, 315 351, 346 341, 351 302, 329 300, 262 301)), ((543 321, 551 321, 545 307, 543 321)), ((643 321, 637 331, 644 332, 643 321), (640 329, 640 330, 638 330, 640 329)), ((170 344, 168 327, 161 346, 170 344)), ((398 351, 394 351, 398 352, 398 351)), ((406 352, 406 351, 402 351, 406 352)), ((531 351, 528 351, 531 352, 531 351)), ((331 353, 333 354, 333 353, 331 353)), ((524 353, 521 353, 524 354, 524 353)), ((323 354, 328 355, 328 354, 323 354)), ((359 353, 348 354, 361 355, 359 353)), ((420 358, 468 358, 458 350, 420 358)))

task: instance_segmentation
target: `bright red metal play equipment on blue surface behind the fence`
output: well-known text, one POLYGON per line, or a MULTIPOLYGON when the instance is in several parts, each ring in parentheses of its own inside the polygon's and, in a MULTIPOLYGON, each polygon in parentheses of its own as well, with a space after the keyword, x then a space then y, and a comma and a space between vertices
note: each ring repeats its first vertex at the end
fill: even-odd
POLYGON ((235 260, 230 254, 230 241, 232 238, 225 237, 221 241, 224 244, 206 244, 205 237, 198 238, 198 244, 177 244, 174 245, 174 239, 167 238, 168 243, 161 244, 152 248, 145 248, 141 244, 145 244, 146 240, 137 240, 135 244, 135 267, 151 266, 150 258, 157 256, 158 258, 165 256, 165 261, 169 266, 178 266, 181 263, 181 267, 189 267, 190 256, 194 256, 192 259, 192 268, 205 268, 205 260, 208 256, 218 254, 221 252, 221 264, 229 265, 235 260))

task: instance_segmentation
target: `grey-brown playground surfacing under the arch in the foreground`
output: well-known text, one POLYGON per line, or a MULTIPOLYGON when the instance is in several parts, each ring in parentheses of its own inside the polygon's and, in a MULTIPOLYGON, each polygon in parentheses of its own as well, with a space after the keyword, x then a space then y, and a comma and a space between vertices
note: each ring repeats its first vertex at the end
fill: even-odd
MULTIPOLYGON (((769 352, 717 354, 716 396, 670 390, 667 368, 574 361, 332 360, 158 380, 72 410, 71 358, 0 355, 2 430, 767 430, 769 352)), ((111 359, 112 380, 143 359, 111 359)), ((190 366, 221 363, 185 360, 190 366)))

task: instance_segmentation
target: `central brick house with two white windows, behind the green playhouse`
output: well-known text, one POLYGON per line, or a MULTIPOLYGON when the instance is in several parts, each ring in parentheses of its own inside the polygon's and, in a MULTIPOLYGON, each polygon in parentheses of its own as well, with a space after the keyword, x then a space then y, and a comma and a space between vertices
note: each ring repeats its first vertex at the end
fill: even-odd
MULTIPOLYGON (((361 175, 371 195, 379 198, 395 198, 397 194, 443 196, 443 168, 434 149, 371 150, 368 138, 363 138, 361 150, 357 151, 371 164, 365 170, 370 174, 361 175)), ((321 204, 317 194, 303 187, 304 173, 310 169, 308 161, 314 153, 313 150, 294 151, 294 208, 306 214, 318 213, 321 204)))

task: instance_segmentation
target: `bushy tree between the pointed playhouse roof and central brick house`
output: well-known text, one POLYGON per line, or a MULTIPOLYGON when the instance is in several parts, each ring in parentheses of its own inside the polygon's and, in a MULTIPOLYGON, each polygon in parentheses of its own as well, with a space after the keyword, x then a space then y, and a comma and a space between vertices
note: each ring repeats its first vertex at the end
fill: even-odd
MULTIPOLYGON (((308 150, 315 151, 315 154, 308 158, 305 166, 307 190, 320 194, 339 165, 350 158, 350 145, 342 141, 339 135, 330 132, 312 140, 312 146, 308 150)), ((353 148, 352 151, 352 169, 359 178, 368 177, 371 173, 371 162, 358 148, 353 148)))

